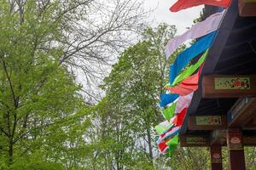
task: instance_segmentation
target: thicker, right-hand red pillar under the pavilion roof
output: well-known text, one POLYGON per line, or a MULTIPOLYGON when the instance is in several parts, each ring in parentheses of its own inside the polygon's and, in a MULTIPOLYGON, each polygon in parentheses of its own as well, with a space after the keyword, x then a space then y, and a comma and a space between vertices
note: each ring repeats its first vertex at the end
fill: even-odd
POLYGON ((246 170, 241 129, 228 129, 227 145, 229 150, 230 170, 246 170))

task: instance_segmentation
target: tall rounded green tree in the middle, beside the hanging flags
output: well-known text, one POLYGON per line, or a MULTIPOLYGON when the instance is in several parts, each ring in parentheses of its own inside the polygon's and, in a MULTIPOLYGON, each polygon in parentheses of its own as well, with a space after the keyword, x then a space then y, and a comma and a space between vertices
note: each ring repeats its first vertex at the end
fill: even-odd
POLYGON ((105 169, 154 169, 152 127, 161 119, 156 104, 170 62, 163 51, 175 32, 175 26, 165 24, 146 29, 105 78, 102 88, 107 94, 95 111, 102 146, 94 154, 105 169))

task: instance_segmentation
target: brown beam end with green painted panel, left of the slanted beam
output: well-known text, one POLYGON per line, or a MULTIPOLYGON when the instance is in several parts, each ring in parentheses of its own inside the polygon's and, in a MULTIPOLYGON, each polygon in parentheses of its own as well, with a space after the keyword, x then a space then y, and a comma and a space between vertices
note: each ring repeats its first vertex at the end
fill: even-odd
POLYGON ((226 127, 226 116, 189 116, 189 130, 217 130, 226 127))

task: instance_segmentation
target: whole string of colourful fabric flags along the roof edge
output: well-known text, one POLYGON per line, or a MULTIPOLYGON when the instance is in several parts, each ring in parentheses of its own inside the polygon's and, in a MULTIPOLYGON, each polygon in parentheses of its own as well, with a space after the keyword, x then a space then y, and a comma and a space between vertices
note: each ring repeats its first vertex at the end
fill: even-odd
MULTIPOLYGON (((170 9, 177 12, 181 9, 200 4, 226 8, 230 5, 230 2, 231 0, 177 0, 177 3, 170 9)), ((172 156, 173 150, 177 147, 177 134, 181 130, 194 92, 198 89, 201 69, 207 58, 208 49, 217 35, 218 26, 224 14, 225 10, 217 14, 212 14, 206 20, 192 26, 183 35, 174 37, 166 45, 165 54, 168 59, 183 42, 201 37, 179 54, 174 63, 170 65, 169 83, 165 86, 167 94, 160 95, 160 107, 165 107, 163 116, 166 118, 166 121, 154 127, 157 133, 156 143, 158 144, 160 153, 168 150, 167 153, 169 156, 172 156), (191 59, 195 59, 200 54, 202 55, 195 64, 189 65, 191 59)))

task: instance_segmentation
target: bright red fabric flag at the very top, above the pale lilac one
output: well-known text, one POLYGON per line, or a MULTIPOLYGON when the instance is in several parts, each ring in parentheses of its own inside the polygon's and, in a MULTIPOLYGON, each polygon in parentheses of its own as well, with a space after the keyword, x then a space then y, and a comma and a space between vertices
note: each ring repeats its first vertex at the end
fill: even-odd
POLYGON ((185 8, 191 8, 203 4, 227 8, 230 6, 230 3, 231 0, 177 0, 170 10, 172 12, 177 12, 185 8))

